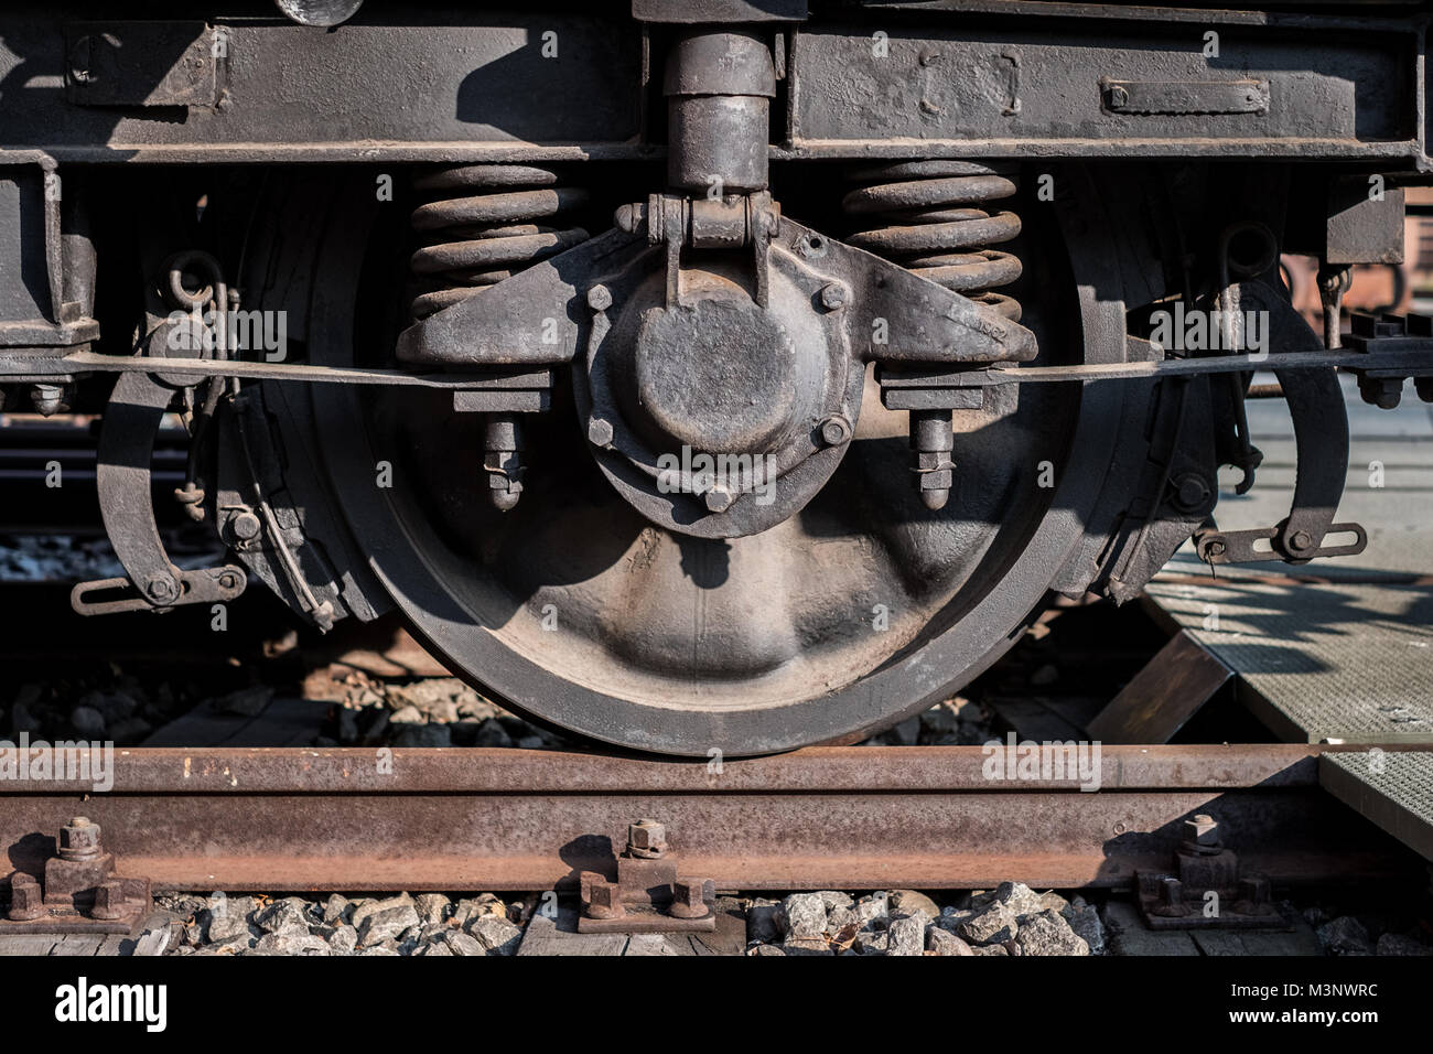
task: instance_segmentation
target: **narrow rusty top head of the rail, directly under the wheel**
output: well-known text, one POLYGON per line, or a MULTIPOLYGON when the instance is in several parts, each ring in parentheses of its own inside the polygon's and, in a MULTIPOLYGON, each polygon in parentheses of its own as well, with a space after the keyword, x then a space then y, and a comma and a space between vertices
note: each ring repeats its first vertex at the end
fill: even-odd
MULTIPOLYGON (((997 792, 982 773, 982 747, 810 747, 772 757, 649 760, 545 750, 391 750, 391 773, 378 771, 373 749, 116 750, 120 794, 653 794, 997 792), (898 760, 898 766, 893 761, 898 760)), ((1103 790, 1188 790, 1317 786, 1313 759, 1328 747, 1305 744, 1105 747, 1103 790)), ((1048 792, 1078 790, 1075 779, 1048 792)), ((0 797, 73 796, 85 780, 10 780, 0 797)), ((103 800, 103 799, 96 799, 103 800)), ((646 813, 633 813, 645 816, 646 813)), ((64 820, 69 813, 62 816, 64 820)), ((626 832, 625 817, 619 833, 626 832)))

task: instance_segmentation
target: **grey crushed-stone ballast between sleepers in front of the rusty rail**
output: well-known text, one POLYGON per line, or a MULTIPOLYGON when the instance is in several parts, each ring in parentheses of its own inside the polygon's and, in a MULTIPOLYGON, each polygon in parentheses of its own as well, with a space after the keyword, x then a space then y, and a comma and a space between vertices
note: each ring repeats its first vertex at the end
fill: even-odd
MULTIPOLYGON (((724 896, 745 919, 745 955, 890 956, 1089 956, 1136 952, 1121 946, 1103 903, 1079 893, 1037 892, 1019 882, 972 892, 910 889, 851 895, 788 893, 780 899, 724 896)), ((550 898, 547 899, 550 903, 550 898)), ((265 896, 160 893, 166 922, 138 935, 133 954, 149 955, 516 955, 527 924, 545 909, 542 893, 381 896, 265 896)), ((1324 955, 1433 955, 1422 925, 1404 918, 1338 915, 1324 906, 1287 918, 1305 925, 1324 955), (1390 926, 1400 928, 1390 928, 1390 926)), ((1128 925, 1123 924, 1123 925, 1128 925)), ((549 926, 550 929, 550 926, 549 926)), ((529 952, 530 954, 530 952, 529 952)), ((1307 954, 1307 952, 1303 952, 1307 954)))

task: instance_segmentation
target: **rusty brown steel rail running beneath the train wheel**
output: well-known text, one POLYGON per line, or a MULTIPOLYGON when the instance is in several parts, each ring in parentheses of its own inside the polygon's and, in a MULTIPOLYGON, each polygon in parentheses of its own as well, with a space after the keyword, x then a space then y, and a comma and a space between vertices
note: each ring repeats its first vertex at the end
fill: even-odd
POLYGON ((980 747, 808 749, 727 761, 529 750, 149 749, 115 783, 0 782, 0 845, 33 866, 72 815, 156 889, 546 889, 613 872, 666 823, 724 889, 1122 886, 1212 813, 1275 883, 1414 873, 1318 787, 1327 747, 1105 747, 1101 790, 993 782, 980 747))

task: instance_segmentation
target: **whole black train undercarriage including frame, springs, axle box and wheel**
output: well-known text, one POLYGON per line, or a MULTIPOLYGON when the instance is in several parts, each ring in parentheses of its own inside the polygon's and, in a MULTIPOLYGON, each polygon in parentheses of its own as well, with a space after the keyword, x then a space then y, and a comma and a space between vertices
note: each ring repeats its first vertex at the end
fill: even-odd
MULTIPOLYGON (((225 377, 182 490, 315 624, 396 604, 609 743, 850 740, 977 674, 1050 589, 1128 599, 1219 460, 1254 465, 1254 361, 1139 340, 1158 305, 1283 320, 1305 424, 1336 390, 1313 367, 1360 354, 1374 402, 1433 394, 1426 341, 1321 350, 1218 241, 1258 227, 1270 265, 1298 247, 1334 284, 1399 254, 1396 184, 1433 171, 1423 13, 470 7, 0 13, 0 383, 54 409, 122 374, 100 489, 146 605, 195 585, 155 543, 146 437, 225 377), (1369 175, 1386 198, 1357 199, 1369 175), (228 275, 292 356, 150 373, 135 244, 209 252, 218 313, 228 275), (676 450, 770 456, 774 500, 685 467, 668 493, 676 450)), ((1300 429, 1281 555, 1324 555, 1341 478, 1305 462, 1344 446, 1300 429)))

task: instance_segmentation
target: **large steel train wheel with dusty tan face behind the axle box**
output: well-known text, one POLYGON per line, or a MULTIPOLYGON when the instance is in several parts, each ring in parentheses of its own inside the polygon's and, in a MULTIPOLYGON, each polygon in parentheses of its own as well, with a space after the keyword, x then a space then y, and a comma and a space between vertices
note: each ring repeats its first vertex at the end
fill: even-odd
MULTIPOLYGON (((1122 275, 1139 250, 1083 172, 1068 182, 1063 209, 1029 202, 1045 219, 1026 221, 1012 293, 1039 364, 1123 359, 1122 275)), ((310 361, 393 361, 404 251, 384 208, 371 182, 318 175, 258 211, 246 303, 288 310, 310 361)), ((909 482, 906 414, 873 389, 821 493, 727 541, 635 512, 570 406, 530 416, 523 499, 499 512, 481 422, 451 396, 268 384, 264 399, 288 459, 322 480, 317 493, 291 479, 295 508, 341 512, 342 546, 454 670, 579 736, 702 757, 857 741, 984 670, 1062 571, 1088 562, 1086 522, 1128 442, 1118 423, 1139 417, 1123 400, 1148 397, 1123 384, 995 389, 983 409, 956 412, 954 488, 930 511, 909 482)))

